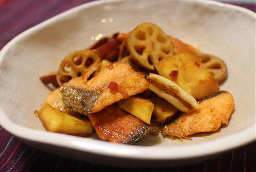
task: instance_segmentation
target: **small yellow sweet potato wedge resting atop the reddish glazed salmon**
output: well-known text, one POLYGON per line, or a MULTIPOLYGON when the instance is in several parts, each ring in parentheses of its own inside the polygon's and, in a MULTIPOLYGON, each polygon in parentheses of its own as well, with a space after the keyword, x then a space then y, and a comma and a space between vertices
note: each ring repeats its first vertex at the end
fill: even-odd
POLYGON ((151 115, 154 110, 154 104, 151 101, 142 97, 132 96, 118 102, 118 107, 150 124, 151 115))

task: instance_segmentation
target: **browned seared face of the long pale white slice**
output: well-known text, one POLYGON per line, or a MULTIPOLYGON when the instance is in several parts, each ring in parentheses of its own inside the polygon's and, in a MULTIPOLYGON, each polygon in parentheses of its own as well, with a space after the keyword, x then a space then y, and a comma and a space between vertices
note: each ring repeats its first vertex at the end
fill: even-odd
POLYGON ((155 80, 152 80, 152 79, 148 79, 147 78, 147 81, 149 81, 151 84, 157 86, 160 90, 164 91, 165 93, 169 94, 169 95, 172 95, 173 97, 175 97, 176 99, 179 100, 180 103, 182 103, 184 106, 186 106, 189 110, 193 110, 194 108, 188 103, 186 102, 185 100, 181 99, 180 96, 178 95, 179 94, 179 90, 176 90, 170 86, 167 86, 167 85, 164 85, 162 83, 159 83, 155 80))

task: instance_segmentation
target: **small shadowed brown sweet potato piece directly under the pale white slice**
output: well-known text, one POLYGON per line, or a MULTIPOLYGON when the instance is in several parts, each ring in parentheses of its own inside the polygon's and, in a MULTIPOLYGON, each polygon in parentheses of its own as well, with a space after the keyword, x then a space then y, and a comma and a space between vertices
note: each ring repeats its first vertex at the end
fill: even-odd
POLYGON ((178 111, 176 107, 158 96, 154 96, 150 100, 154 104, 153 116, 160 123, 168 121, 178 111))

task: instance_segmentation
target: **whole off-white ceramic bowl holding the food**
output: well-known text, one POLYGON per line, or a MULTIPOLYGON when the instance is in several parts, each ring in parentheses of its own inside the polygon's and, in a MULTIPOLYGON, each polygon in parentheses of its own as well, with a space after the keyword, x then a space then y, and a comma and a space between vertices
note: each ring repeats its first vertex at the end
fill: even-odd
POLYGON ((212 1, 96 1, 59 14, 25 31, 0 53, 0 124, 35 148, 116 166, 163 167, 199 162, 255 139, 255 13, 212 1), (222 90, 236 110, 229 125, 192 140, 150 136, 136 145, 46 132, 33 113, 50 92, 39 77, 55 71, 65 55, 97 36, 131 31, 153 22, 165 33, 228 66, 222 90), (142 146, 143 145, 143 146, 142 146))

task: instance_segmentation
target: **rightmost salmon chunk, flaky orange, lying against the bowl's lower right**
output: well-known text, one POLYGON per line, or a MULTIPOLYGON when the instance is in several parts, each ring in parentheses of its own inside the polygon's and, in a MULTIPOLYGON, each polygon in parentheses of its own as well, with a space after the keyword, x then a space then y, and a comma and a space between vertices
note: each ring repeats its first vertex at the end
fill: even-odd
POLYGON ((174 122, 165 125, 161 129, 162 134, 184 138, 200 132, 217 131, 221 125, 228 124, 234 109, 233 96, 227 91, 220 91, 202 99, 199 106, 199 109, 182 113, 174 122))

